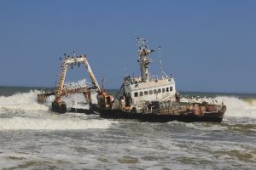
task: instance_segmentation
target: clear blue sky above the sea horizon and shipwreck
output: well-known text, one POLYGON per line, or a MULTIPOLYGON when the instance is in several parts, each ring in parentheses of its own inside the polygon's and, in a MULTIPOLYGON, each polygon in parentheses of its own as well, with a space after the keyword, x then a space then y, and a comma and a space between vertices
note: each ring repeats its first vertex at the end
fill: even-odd
MULTIPOLYGON (((181 91, 256 93, 256 1, 0 0, 0 85, 52 87, 62 54, 86 54, 119 88, 139 75, 136 35, 162 47, 181 91)), ((151 74, 160 74, 158 53, 151 74)), ((81 67, 67 82, 88 79, 81 67)))

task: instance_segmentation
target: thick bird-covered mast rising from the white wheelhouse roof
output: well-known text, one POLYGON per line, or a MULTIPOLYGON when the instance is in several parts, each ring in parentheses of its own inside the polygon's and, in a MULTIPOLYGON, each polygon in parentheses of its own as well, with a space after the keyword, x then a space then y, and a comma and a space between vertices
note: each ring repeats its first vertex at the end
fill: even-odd
POLYGON ((140 37, 137 37, 137 43, 139 46, 139 50, 137 53, 139 54, 139 65, 141 68, 141 77, 142 82, 148 82, 149 73, 148 73, 148 66, 152 62, 152 60, 147 56, 154 52, 154 50, 149 49, 147 45, 145 45, 146 40, 140 37))

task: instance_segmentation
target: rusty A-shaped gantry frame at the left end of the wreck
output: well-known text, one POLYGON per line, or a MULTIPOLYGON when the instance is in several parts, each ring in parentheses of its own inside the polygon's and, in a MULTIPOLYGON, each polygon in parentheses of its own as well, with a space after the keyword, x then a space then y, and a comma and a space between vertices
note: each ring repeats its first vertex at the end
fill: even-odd
MULTIPOLYGON (((49 96, 54 95, 55 100, 52 102, 52 111, 65 113, 67 112, 67 104, 62 101, 62 96, 67 96, 69 94, 84 94, 87 103, 91 105, 91 93, 97 92, 97 100, 99 105, 102 107, 109 107, 111 102, 113 101, 113 97, 108 95, 107 92, 104 90, 103 81, 102 81, 102 89, 100 88, 98 82, 96 81, 96 77, 94 76, 93 71, 90 68, 89 62, 84 54, 80 56, 76 56, 73 54, 73 57, 69 57, 68 55, 64 54, 64 59, 62 59, 61 63, 61 75, 60 75, 60 82, 57 84, 55 88, 55 92, 42 92, 38 94, 38 103, 44 103, 49 96), (73 69, 74 65, 84 65, 88 75, 90 77, 91 86, 88 87, 65 87, 65 79, 67 75, 67 67, 71 66, 73 69)), ((84 99, 84 100, 85 100, 84 99)), ((74 108, 72 108, 74 109, 74 108)), ((76 110, 76 109, 75 109, 76 110)))

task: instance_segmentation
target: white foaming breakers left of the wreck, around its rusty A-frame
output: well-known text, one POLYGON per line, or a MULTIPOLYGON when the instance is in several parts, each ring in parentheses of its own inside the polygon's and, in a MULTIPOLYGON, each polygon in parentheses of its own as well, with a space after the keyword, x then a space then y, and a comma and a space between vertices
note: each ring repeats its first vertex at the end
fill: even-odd
MULTIPOLYGON (((0 131, 3 130, 79 130, 89 128, 108 128, 112 121, 91 118, 90 116, 67 113, 58 115, 49 112, 51 101, 38 104, 37 90, 17 93, 12 96, 0 96, 0 131)), ((74 94, 63 97, 67 103, 84 99, 83 95, 74 94)))

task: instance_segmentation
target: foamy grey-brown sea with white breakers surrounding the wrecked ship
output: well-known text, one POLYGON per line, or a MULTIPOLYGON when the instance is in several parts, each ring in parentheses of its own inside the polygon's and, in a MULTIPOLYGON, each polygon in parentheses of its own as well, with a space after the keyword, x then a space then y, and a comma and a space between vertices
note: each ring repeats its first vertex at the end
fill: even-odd
POLYGON ((221 123, 58 115, 37 94, 0 88, 0 169, 256 169, 255 94, 182 93, 224 101, 221 123))

